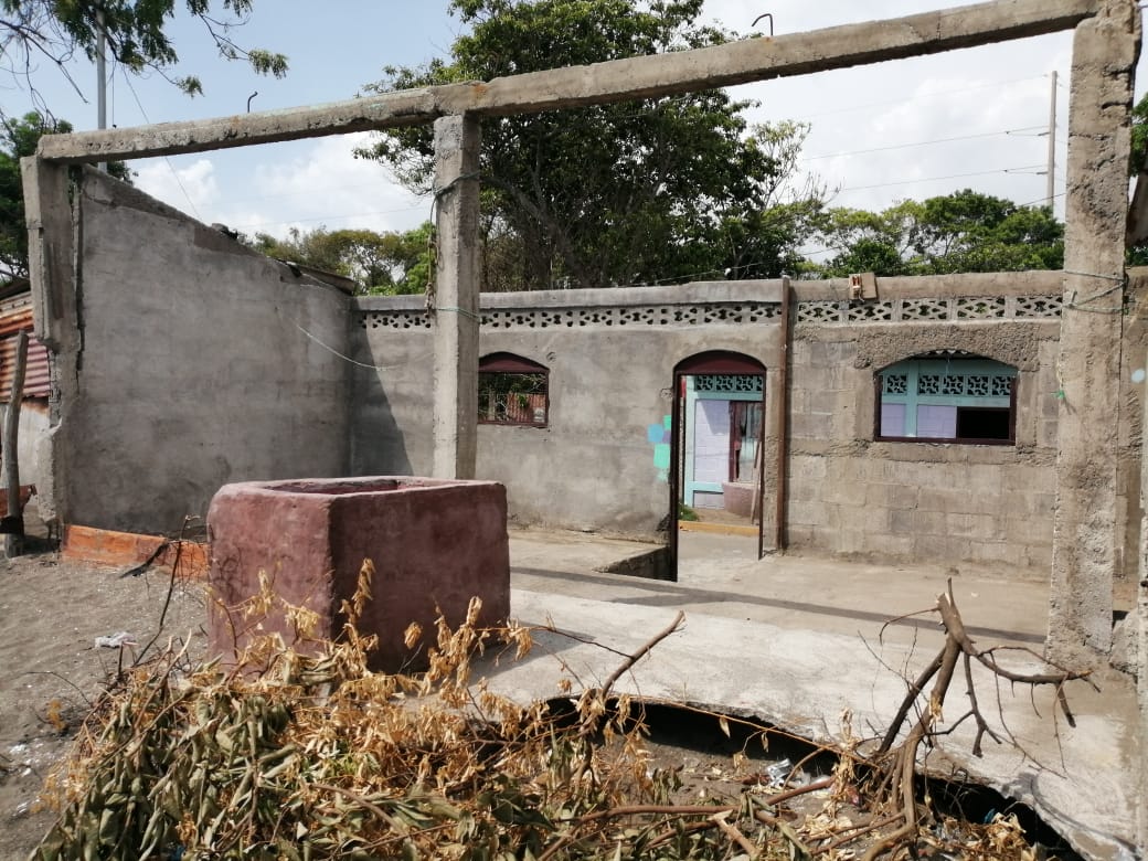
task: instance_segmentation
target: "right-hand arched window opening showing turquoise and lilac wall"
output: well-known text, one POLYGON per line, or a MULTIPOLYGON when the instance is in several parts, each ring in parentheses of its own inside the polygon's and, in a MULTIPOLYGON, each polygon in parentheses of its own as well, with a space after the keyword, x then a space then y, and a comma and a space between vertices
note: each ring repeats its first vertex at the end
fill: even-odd
POLYGON ((1016 440, 1016 369, 960 350, 877 374, 878 440, 1007 445, 1016 440))

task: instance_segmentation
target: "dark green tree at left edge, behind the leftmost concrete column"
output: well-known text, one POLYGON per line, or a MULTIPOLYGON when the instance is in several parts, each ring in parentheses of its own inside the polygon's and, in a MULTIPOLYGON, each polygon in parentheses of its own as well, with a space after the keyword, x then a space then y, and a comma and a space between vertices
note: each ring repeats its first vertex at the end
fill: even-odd
MULTIPOLYGON (((20 160, 32 155, 42 134, 72 130, 65 119, 48 119, 37 111, 0 121, 0 280, 28 277, 28 227, 20 160)), ((108 172, 131 181, 123 162, 110 162, 108 172)))

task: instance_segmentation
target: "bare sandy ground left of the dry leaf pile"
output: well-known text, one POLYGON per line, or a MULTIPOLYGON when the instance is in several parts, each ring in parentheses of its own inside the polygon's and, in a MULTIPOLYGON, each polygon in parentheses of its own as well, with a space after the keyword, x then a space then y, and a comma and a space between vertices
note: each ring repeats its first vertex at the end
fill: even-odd
POLYGON ((164 569, 124 577, 53 552, 0 558, 0 861, 26 858, 54 820, 36 809, 44 777, 121 660, 95 638, 131 634, 127 662, 157 634, 153 651, 169 637, 202 651, 202 592, 177 584, 164 614, 170 583, 164 569))

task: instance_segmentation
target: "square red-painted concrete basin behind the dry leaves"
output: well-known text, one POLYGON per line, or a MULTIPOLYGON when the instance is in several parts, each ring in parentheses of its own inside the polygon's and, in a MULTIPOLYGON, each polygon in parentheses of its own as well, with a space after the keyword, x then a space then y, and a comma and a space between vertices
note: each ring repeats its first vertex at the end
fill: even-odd
MULTIPOLYGON (((355 595, 365 559, 374 565, 371 600, 359 633, 377 635, 375 669, 425 664, 441 611, 452 626, 482 602, 479 623, 498 625, 510 610, 506 492, 492 482, 374 476, 247 482, 216 494, 208 515, 212 589, 209 647, 233 661, 258 628, 296 642, 278 604, 243 616, 241 605, 271 581, 288 605, 318 614, 317 638, 336 638, 344 600, 355 595), (403 642, 417 622, 414 651, 403 642)), ((301 651, 309 651, 307 641, 301 651)))

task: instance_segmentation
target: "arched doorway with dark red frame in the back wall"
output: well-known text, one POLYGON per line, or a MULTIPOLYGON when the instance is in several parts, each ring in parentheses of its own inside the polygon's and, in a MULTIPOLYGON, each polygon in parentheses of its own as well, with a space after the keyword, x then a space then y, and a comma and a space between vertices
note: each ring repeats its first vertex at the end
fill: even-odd
POLYGON ((737 507, 757 528, 761 558, 766 366, 727 350, 683 359, 674 367, 673 416, 668 537, 674 579, 680 517, 687 509, 737 507))

